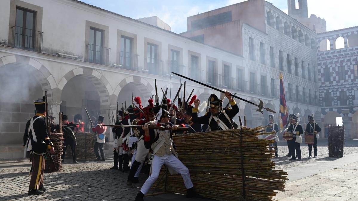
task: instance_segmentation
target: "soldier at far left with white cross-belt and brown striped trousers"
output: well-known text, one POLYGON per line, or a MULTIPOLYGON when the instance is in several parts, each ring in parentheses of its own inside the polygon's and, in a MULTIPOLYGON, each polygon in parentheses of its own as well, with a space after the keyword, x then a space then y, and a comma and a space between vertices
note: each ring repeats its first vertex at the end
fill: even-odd
POLYGON ((46 125, 46 102, 36 100, 34 102, 37 114, 30 119, 25 126, 24 147, 30 152, 32 161, 32 175, 29 185, 29 195, 39 195, 46 190, 43 186, 45 171, 45 154, 47 150, 53 154, 55 149, 47 132, 46 125))

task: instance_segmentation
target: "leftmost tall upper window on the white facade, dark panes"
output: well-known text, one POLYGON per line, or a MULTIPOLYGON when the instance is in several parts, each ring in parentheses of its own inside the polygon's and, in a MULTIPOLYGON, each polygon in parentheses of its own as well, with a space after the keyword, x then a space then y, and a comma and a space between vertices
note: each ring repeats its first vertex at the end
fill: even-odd
POLYGON ((16 8, 14 27, 14 46, 16 48, 33 49, 35 38, 35 14, 36 12, 23 8, 16 8))

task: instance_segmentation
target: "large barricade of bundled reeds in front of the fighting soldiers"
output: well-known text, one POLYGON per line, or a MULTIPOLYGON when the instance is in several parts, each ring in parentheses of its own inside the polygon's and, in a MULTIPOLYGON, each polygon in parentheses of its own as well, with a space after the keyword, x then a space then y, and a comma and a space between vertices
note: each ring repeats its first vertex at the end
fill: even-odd
MULTIPOLYGON (((179 159, 189 169, 194 189, 204 197, 225 200, 272 200, 283 191, 287 172, 270 159, 274 140, 258 139, 265 127, 230 129, 173 136, 179 159)), ((184 193, 183 178, 163 166, 152 190, 184 193)))

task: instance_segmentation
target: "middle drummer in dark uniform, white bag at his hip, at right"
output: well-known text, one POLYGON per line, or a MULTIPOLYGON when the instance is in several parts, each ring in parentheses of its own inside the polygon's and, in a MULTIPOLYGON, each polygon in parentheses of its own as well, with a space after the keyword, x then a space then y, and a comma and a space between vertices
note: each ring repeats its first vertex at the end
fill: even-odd
POLYGON ((297 154, 297 160, 301 160, 301 148, 300 143, 296 142, 296 138, 301 136, 303 134, 303 128, 301 124, 299 124, 300 119, 298 118, 300 116, 299 113, 297 115, 292 114, 292 124, 288 128, 288 132, 293 134, 293 139, 289 140, 289 149, 292 158, 290 160, 296 160, 295 150, 297 154))

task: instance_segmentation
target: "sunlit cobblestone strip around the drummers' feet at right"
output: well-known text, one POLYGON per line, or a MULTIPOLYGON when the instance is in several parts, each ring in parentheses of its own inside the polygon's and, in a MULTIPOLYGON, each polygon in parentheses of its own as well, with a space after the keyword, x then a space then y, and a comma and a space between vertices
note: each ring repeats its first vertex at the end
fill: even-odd
MULTIPOLYGON (((312 158, 308 158, 308 144, 301 143, 301 161, 290 161, 286 154, 289 152, 286 141, 281 141, 278 144, 278 158, 272 158, 272 161, 276 163, 276 169, 285 170, 290 167, 304 165, 307 163, 315 162, 316 160, 325 160, 328 158, 328 140, 321 139, 317 142, 317 158, 313 158, 313 147, 312 147, 312 158)), ((358 153, 358 140, 346 140, 344 143, 343 156, 351 153, 358 153)))

